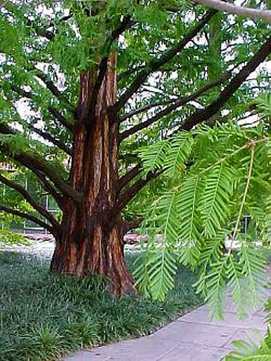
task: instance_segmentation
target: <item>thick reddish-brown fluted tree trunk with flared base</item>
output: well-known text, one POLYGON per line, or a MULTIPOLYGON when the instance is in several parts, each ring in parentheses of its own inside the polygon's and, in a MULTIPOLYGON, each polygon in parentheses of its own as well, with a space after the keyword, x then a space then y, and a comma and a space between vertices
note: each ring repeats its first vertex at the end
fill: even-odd
POLYGON ((135 288, 125 266, 122 218, 116 207, 119 130, 107 114, 116 96, 115 65, 112 54, 96 101, 93 88, 97 71, 80 75, 70 185, 83 198, 80 204, 65 198, 62 232, 56 239, 51 270, 106 276, 112 281, 113 293, 119 296, 135 288))

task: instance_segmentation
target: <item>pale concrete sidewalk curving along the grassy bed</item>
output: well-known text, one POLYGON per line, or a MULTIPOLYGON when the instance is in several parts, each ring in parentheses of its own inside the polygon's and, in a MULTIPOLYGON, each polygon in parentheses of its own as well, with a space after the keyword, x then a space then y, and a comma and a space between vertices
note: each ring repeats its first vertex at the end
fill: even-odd
POLYGON ((251 310, 242 321, 230 295, 224 321, 210 322, 208 312, 207 305, 201 306, 150 336, 80 351, 64 361, 218 361, 233 349, 232 341, 245 340, 247 332, 257 342, 250 329, 265 335, 266 313, 251 310))

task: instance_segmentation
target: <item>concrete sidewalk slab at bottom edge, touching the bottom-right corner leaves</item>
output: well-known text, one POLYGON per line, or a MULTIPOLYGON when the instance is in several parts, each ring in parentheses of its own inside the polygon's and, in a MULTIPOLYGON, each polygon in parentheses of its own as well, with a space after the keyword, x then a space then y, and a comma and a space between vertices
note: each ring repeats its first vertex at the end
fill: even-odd
POLYGON ((230 348, 182 343, 166 355, 157 358, 156 361, 218 361, 230 351, 230 348))

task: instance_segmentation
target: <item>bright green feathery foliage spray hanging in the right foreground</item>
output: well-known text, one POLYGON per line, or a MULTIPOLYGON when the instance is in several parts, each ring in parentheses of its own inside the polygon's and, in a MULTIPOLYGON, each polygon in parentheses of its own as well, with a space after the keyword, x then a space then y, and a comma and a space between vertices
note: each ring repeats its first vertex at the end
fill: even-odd
MULTIPOLYGON (((271 191, 269 130, 262 124, 255 128, 240 128, 232 123, 213 128, 199 126, 183 139, 174 138, 174 147, 189 138, 193 143, 189 143, 186 151, 179 147, 182 156, 178 155, 178 161, 167 156, 171 147, 168 140, 165 145, 159 143, 159 152, 156 146, 141 152, 148 171, 167 164, 171 174, 145 222, 147 232, 151 232, 148 227, 151 222, 158 226, 163 250, 167 249, 162 258, 163 262, 167 260, 167 275, 161 291, 155 285, 163 284, 157 278, 164 274, 149 266, 156 262, 156 257, 161 263, 159 247, 153 246, 146 248, 149 256, 136 270, 135 277, 139 285, 144 282, 144 269, 148 294, 163 299, 166 287, 170 289, 173 282, 175 262, 171 260, 176 257, 193 269, 200 267, 200 278, 194 286, 209 301, 211 317, 223 317, 227 284, 238 313, 245 316, 246 308, 255 307, 261 299, 265 257, 261 250, 255 252, 253 242, 257 239, 252 238, 251 231, 246 236, 240 233, 241 219, 249 213, 250 224, 261 225, 261 234, 266 231, 268 221, 261 222, 270 207, 270 197, 266 197, 271 191), (225 253, 222 248, 227 238, 230 245, 225 253), (233 242, 239 245, 234 254, 233 242)), ((153 244, 153 240, 150 242, 153 244)))

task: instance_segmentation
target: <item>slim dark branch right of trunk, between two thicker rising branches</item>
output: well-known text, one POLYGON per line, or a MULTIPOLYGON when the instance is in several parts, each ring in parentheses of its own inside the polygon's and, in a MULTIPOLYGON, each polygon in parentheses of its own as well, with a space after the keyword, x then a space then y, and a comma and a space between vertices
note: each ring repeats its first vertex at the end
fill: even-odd
MULTIPOLYGON (((179 108, 179 106, 185 105, 187 104, 189 101, 192 100, 196 100, 199 96, 201 96, 206 90, 209 90, 221 83, 223 83, 224 81, 226 81, 227 79, 230 78, 230 73, 226 73, 223 77, 209 82, 207 84, 205 84, 202 88, 200 88, 198 91, 196 91, 194 94, 189 95, 189 96, 184 96, 184 97, 179 97, 178 99, 175 99, 175 103, 168 106, 167 108, 161 110, 160 112, 158 112, 155 116, 153 116, 152 118, 147 119, 146 121, 139 123, 137 125, 135 125, 134 127, 131 127, 130 129, 122 132, 119 135, 119 142, 121 142, 123 139, 128 138, 128 136, 135 134, 136 132, 147 128, 148 126, 150 126, 151 124, 153 124, 154 122, 157 122, 159 119, 161 119, 162 117, 165 117, 167 114, 171 113, 173 110, 179 108)), ((170 100, 169 102, 172 102, 172 100, 170 100)), ((141 109, 138 109, 140 112, 143 111, 141 109)), ((131 113, 130 113, 131 114, 131 113)))

